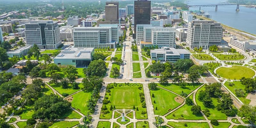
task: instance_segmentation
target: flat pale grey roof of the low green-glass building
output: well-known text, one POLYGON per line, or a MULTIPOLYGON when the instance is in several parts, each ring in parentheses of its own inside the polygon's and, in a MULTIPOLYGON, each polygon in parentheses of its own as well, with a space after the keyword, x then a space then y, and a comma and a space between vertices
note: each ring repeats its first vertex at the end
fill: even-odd
POLYGON ((94 48, 65 48, 54 59, 92 59, 94 48))

